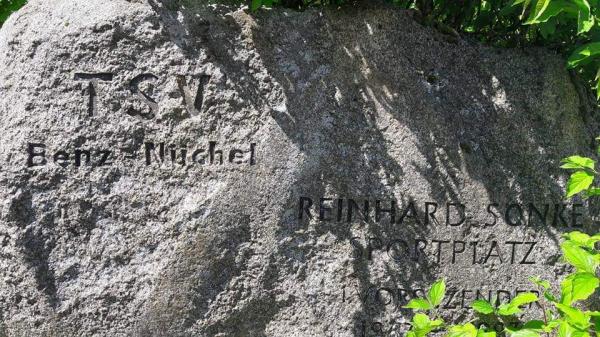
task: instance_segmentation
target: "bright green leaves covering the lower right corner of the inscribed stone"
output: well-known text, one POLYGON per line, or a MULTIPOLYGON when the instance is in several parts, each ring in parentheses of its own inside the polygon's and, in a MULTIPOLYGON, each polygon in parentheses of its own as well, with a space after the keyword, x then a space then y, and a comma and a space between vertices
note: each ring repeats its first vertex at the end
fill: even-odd
MULTIPOLYGON (((593 169, 594 166, 593 163, 581 157, 571 157, 571 160, 567 161, 565 165, 569 169, 593 169)), ((481 315, 482 323, 504 323, 506 328, 503 333, 509 337, 539 337, 542 333, 547 336, 559 337, 590 337, 594 333, 596 336, 600 336, 598 334, 600 332, 600 312, 582 310, 577 307, 578 301, 588 299, 600 286, 600 279, 596 276, 597 269, 600 267, 600 252, 595 248, 596 243, 600 242, 600 234, 590 236, 581 232, 571 232, 565 234, 563 239, 561 244, 563 258, 573 267, 574 272, 561 282, 561 296, 557 297, 552 293, 550 282, 541 280, 539 277, 532 277, 530 281, 539 287, 544 294, 543 299, 539 299, 532 292, 521 293, 508 303, 498 307, 489 301, 477 299, 471 307, 474 312, 481 315), (543 310, 543 317, 520 322, 515 315, 521 314, 523 307, 531 303, 539 304, 543 310), (548 304, 550 304, 550 308, 547 309, 548 304)), ((437 306, 443 300, 445 288, 443 280, 435 282, 426 298, 414 299, 406 308, 425 310, 435 317, 437 306), (438 304, 434 305, 434 303, 438 304)), ((428 333, 444 327, 441 318, 432 320, 429 317, 425 313, 416 313, 407 336, 424 337, 428 333)), ((449 326, 446 336, 496 337, 496 332, 487 330, 484 328, 484 324, 478 329, 472 322, 467 322, 449 326)))

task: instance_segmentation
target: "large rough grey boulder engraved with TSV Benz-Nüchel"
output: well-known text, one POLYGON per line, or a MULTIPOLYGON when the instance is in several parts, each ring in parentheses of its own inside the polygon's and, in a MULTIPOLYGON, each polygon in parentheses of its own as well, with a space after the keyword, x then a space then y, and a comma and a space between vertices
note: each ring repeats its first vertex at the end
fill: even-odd
POLYGON ((561 203, 597 130, 563 62, 384 6, 32 0, 0 33, 2 333, 400 336, 437 277, 449 320, 556 282, 598 229, 561 203))

